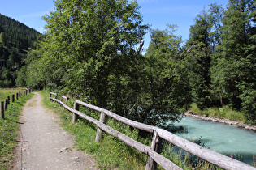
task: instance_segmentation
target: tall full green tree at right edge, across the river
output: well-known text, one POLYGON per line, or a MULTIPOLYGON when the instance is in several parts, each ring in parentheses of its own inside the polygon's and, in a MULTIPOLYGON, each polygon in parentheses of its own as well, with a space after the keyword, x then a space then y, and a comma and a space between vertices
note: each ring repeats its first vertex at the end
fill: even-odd
POLYGON ((223 104, 244 108, 255 119, 254 0, 230 0, 223 14, 221 45, 213 68, 213 87, 223 104))

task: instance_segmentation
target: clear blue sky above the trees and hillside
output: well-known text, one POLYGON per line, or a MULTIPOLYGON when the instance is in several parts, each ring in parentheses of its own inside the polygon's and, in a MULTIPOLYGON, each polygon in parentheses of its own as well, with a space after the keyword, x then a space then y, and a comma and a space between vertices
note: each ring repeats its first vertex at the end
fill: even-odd
MULTIPOLYGON (((137 0, 144 23, 151 28, 164 30, 167 23, 177 24, 176 36, 189 39, 190 25, 204 6, 217 3, 225 7, 228 0, 137 0)), ((44 31, 43 15, 54 10, 53 0, 0 0, 0 13, 36 29, 44 31)), ((145 35, 145 48, 150 43, 150 34, 145 35)))

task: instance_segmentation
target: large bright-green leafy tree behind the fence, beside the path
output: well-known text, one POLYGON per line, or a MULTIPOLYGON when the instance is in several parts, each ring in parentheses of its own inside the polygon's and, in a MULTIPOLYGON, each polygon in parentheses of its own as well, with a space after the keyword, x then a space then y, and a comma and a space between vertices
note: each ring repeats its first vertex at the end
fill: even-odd
POLYGON ((124 108, 116 99, 124 105, 129 90, 134 91, 128 80, 142 57, 135 45, 147 28, 138 9, 128 0, 56 1, 55 11, 44 17, 43 56, 54 63, 55 72, 64 73, 57 87, 99 107, 124 108))

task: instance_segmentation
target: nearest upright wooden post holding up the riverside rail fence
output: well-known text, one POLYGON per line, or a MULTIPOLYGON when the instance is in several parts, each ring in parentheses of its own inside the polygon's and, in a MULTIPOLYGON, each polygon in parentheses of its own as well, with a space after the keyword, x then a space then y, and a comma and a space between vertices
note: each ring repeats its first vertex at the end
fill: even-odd
MULTIPOLYGON (((151 143, 151 150, 159 153, 161 144, 162 144, 162 138, 160 138, 158 133, 156 131, 154 131, 154 135, 153 135, 152 143, 151 143)), ((153 169, 156 169, 156 168, 157 168, 157 163, 154 162, 154 159, 149 157, 148 162, 145 166, 145 169, 146 170, 153 170, 153 169)))

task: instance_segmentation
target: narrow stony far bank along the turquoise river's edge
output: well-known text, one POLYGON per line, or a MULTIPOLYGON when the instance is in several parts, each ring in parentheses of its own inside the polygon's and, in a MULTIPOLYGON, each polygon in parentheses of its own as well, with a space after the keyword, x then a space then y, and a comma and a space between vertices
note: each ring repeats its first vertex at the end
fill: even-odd
POLYGON ((197 119, 201 119, 203 121, 215 121, 227 125, 236 125, 237 127, 244 128, 246 130, 254 130, 256 131, 256 125, 246 125, 245 123, 241 121, 230 121, 228 119, 218 118, 218 117, 210 117, 207 115, 198 115, 196 113, 193 113, 192 111, 188 111, 184 113, 185 116, 189 117, 195 117, 197 119))

